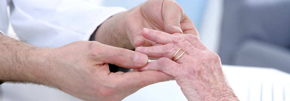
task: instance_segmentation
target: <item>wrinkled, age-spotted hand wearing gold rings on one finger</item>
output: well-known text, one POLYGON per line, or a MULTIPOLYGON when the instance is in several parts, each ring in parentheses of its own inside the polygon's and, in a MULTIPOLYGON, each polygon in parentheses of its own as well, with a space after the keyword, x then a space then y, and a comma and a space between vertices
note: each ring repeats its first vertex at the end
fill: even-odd
POLYGON ((135 51, 148 57, 163 58, 149 62, 138 70, 158 70, 172 75, 189 101, 239 100, 227 82, 219 56, 208 50, 197 36, 168 34, 147 28, 142 30, 142 35, 164 45, 137 47, 135 51))

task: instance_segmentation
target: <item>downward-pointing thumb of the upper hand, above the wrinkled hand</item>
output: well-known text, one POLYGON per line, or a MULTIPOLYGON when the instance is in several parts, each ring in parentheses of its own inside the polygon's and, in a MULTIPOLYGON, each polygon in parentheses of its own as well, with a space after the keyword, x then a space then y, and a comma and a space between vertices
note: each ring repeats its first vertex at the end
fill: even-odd
POLYGON ((164 0, 162 5, 162 15, 164 21, 164 29, 166 33, 174 34, 183 31, 180 27, 180 20, 183 15, 183 10, 174 0, 164 0))

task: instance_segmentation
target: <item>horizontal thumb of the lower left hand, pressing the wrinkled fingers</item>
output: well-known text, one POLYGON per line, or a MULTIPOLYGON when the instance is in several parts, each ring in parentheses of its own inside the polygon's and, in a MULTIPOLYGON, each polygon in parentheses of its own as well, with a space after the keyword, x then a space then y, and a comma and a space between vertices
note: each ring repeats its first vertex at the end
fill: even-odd
POLYGON ((148 63, 148 56, 136 51, 106 45, 103 47, 102 61, 124 68, 141 68, 148 63))

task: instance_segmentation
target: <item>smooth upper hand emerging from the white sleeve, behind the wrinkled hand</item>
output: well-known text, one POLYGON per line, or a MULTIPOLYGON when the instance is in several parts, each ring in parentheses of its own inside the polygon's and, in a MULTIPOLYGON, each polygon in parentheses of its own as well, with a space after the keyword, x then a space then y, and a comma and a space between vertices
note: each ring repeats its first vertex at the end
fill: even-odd
POLYGON ((143 28, 198 36, 194 24, 174 0, 148 0, 101 24, 95 33, 95 41, 129 50, 153 46, 153 41, 141 35, 140 30, 143 28))

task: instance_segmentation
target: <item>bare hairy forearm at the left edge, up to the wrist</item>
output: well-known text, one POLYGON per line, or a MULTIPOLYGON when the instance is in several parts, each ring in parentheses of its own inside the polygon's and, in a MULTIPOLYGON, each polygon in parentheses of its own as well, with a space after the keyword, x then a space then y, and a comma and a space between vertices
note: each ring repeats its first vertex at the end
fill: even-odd
POLYGON ((46 83, 50 57, 45 48, 0 34, 0 81, 46 83))

